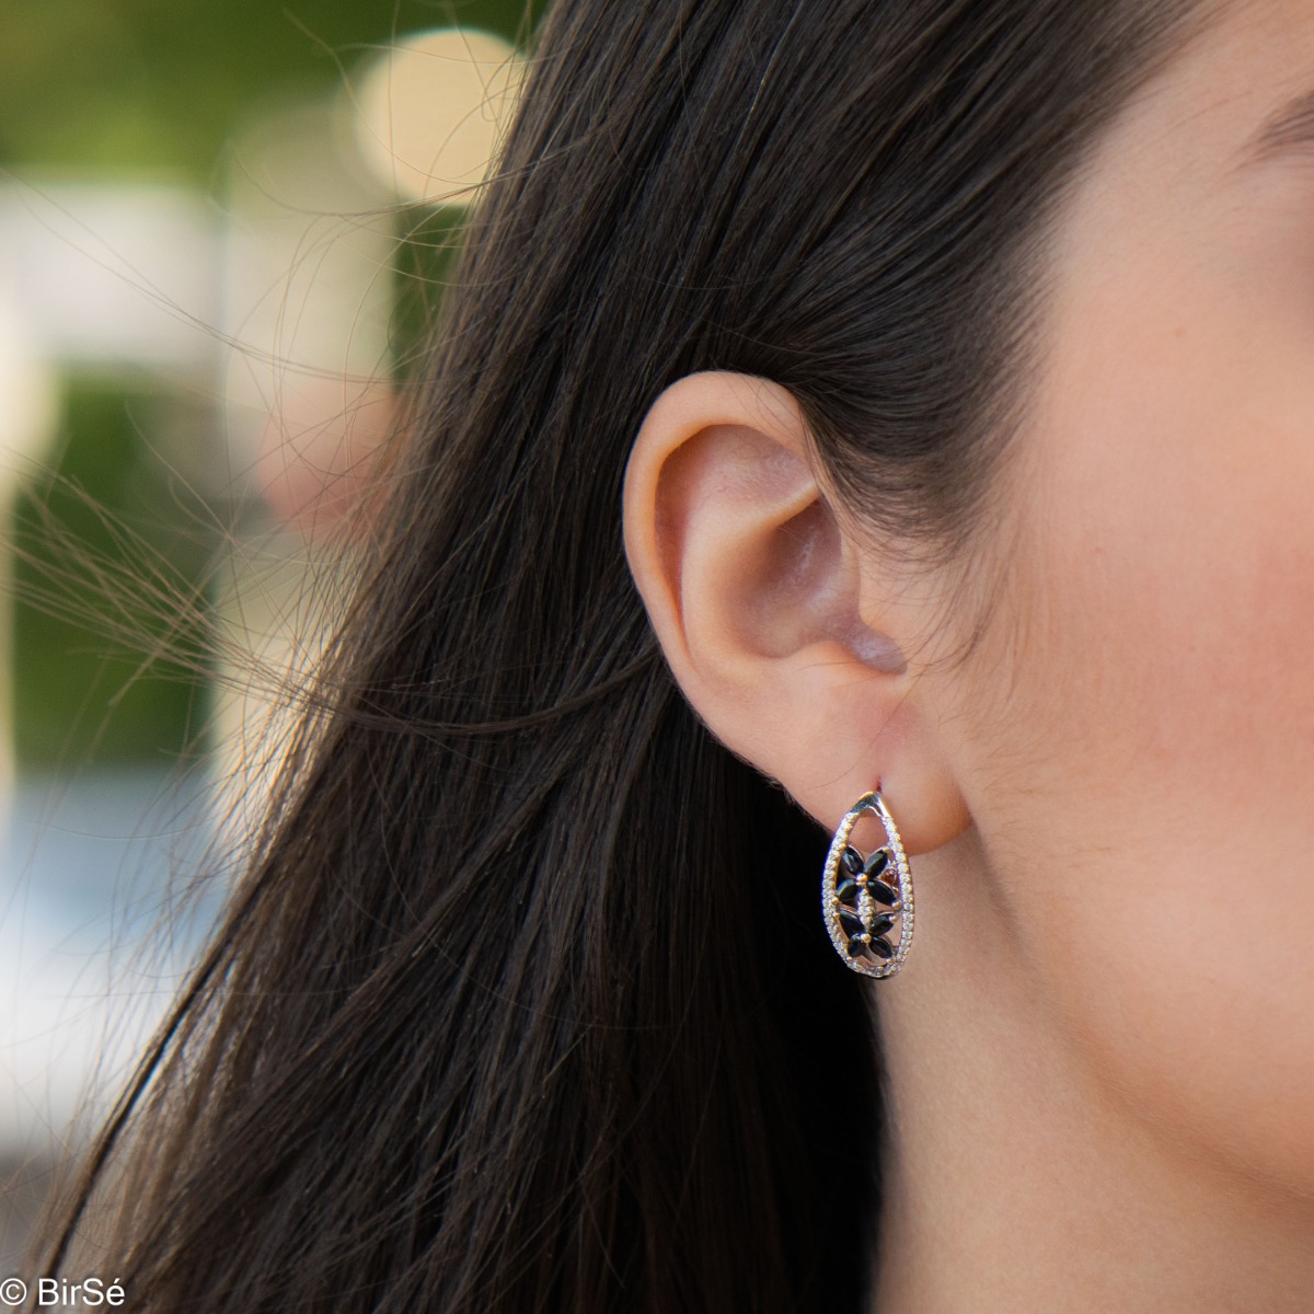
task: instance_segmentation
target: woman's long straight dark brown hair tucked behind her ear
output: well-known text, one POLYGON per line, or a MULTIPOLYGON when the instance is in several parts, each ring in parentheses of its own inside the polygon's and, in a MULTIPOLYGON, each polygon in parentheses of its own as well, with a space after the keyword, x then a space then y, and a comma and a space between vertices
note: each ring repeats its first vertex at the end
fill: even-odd
POLYGON ((267 828, 49 1264, 109 1210, 159 1314, 862 1307, 825 837, 674 686, 628 447, 682 374, 771 378, 851 510, 962 553, 1047 225, 1197 12, 555 7, 267 828))

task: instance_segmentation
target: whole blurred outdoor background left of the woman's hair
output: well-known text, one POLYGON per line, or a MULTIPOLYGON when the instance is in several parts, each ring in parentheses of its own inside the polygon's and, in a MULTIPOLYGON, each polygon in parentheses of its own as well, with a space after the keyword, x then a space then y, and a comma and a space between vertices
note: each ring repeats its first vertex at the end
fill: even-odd
POLYGON ((0 1273, 239 867, 543 8, 0 0, 0 1273))

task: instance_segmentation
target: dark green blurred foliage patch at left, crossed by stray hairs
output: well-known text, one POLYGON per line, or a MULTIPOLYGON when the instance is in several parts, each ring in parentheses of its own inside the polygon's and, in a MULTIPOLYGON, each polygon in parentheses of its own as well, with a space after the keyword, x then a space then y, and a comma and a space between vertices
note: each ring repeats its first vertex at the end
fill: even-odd
POLYGON ((206 426, 166 409, 152 380, 74 377, 50 474, 17 498, 13 716, 26 767, 163 763, 200 746, 204 670, 170 654, 194 661, 208 646, 209 536, 143 431, 194 442, 206 426))

